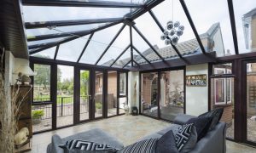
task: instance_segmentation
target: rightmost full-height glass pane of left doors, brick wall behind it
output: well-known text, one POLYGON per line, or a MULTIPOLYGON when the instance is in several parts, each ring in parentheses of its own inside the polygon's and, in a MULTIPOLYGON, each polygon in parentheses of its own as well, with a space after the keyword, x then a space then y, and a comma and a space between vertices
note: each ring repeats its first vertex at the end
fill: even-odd
POLYGON ((117 71, 108 71, 108 116, 117 115, 117 71))

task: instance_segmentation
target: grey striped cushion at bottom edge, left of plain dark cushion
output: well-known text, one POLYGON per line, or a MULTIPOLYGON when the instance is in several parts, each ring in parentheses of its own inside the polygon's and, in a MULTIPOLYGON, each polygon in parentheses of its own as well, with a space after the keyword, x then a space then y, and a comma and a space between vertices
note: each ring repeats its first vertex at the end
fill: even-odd
POLYGON ((135 144, 126 146, 124 149, 119 150, 118 153, 154 153, 157 140, 158 139, 144 139, 135 144))

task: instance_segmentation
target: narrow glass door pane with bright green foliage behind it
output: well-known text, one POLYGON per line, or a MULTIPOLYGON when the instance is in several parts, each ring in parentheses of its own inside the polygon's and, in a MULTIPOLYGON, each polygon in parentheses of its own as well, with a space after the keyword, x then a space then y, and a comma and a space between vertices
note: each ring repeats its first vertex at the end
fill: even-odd
POLYGON ((80 71, 79 121, 90 119, 90 71, 80 71))

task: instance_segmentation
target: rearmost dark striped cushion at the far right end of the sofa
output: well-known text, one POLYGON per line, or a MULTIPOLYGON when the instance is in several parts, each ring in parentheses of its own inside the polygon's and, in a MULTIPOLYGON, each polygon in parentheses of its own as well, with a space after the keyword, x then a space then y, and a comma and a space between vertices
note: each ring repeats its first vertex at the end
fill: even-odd
POLYGON ((219 122, 222 114, 223 114, 224 109, 223 108, 219 108, 219 109, 215 109, 212 111, 208 111, 204 114, 201 114, 200 117, 212 117, 212 123, 211 126, 209 127, 209 131, 211 131, 219 122))

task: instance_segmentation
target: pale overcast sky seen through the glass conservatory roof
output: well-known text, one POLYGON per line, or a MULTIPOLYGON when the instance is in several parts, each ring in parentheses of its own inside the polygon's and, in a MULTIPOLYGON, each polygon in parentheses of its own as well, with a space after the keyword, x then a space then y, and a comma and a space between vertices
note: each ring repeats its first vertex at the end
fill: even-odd
MULTIPOLYGON (((120 2, 119 0, 114 0, 120 2)), ((123 0, 124 2, 130 2, 131 0, 123 0)), ((135 3, 143 2, 143 0, 136 0, 135 3)), ((231 54, 235 54, 233 37, 230 26, 230 15, 228 4, 226 0, 185 0, 189 13, 191 14, 192 20, 195 23, 196 30, 199 34, 205 33, 214 23, 219 22, 224 40, 224 49, 230 49, 231 54)), ((241 18, 243 14, 256 7, 255 0, 233 0, 235 18, 236 18, 236 33, 238 38, 238 46, 240 53, 247 53, 245 49, 245 41, 242 30, 241 18)), ((179 42, 184 42, 190 39, 194 39, 195 35, 189 26, 183 8, 179 3, 179 0, 166 0, 160 3, 158 6, 152 9, 162 26, 166 26, 166 22, 169 20, 179 21, 181 25, 185 27, 183 36, 180 37, 179 42), (172 9, 173 8, 173 9, 172 9), (173 17, 173 19, 172 19, 173 17)), ((82 20, 82 19, 97 19, 97 18, 115 18, 123 17, 124 14, 130 12, 129 8, 80 8, 80 7, 23 7, 25 21, 49 21, 49 20, 82 20)), ((143 35, 148 38, 149 42, 153 45, 157 44, 160 48, 165 47, 164 41, 160 40, 162 35, 160 29, 154 23, 150 14, 143 14, 141 17, 135 20, 137 28, 143 32, 143 35)), ((69 26, 69 27, 56 27, 61 31, 81 31, 88 30, 102 26, 102 24, 93 24, 86 26, 69 26)), ((88 48, 81 59, 82 63, 94 64, 96 59, 102 54, 103 50, 107 48, 108 43, 113 39, 114 35, 119 31, 122 25, 110 27, 108 29, 98 31, 92 37, 93 42, 90 42, 88 48)), ((43 35, 49 33, 55 33, 54 30, 47 28, 29 30, 26 31, 27 36, 43 35)), ((87 41, 87 37, 79 38, 73 42, 67 42, 60 46, 59 54, 57 59, 64 59, 68 61, 76 61, 79 54, 84 48, 84 44, 87 41)), ((119 53, 130 43, 129 40, 129 28, 125 28, 113 42, 113 46, 109 48, 108 53, 103 56, 99 64, 115 59, 119 53)), ((58 40, 58 39, 55 39, 58 40)), ((53 41, 55 41, 53 40, 53 41)), ((42 41, 41 41, 42 42, 42 41)), ((136 31, 133 31, 133 42, 136 48, 143 52, 148 48, 148 45, 143 42, 142 38, 139 37, 136 31)), ((49 55, 53 57, 55 48, 50 48, 47 51, 41 52, 40 54, 49 55)), ((129 57, 129 51, 126 51, 123 57, 124 59, 129 57)))

